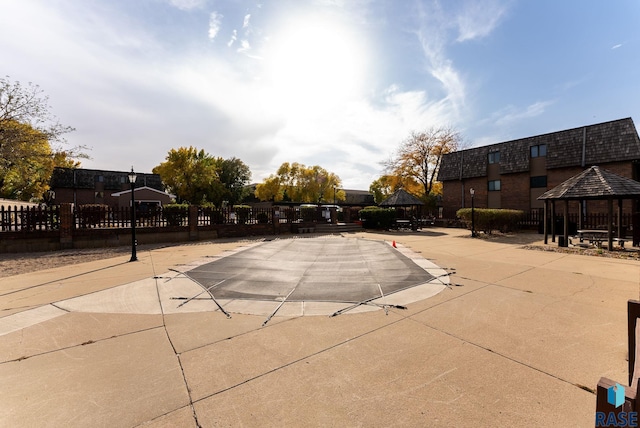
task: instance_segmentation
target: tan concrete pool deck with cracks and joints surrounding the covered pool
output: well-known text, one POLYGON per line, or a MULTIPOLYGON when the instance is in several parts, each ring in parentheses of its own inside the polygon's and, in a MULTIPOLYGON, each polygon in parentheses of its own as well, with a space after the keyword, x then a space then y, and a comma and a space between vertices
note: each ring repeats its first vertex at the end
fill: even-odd
POLYGON ((593 426, 589 390, 627 379, 640 264, 467 235, 346 234, 395 240, 451 282, 406 310, 264 326, 171 299, 202 291, 178 272, 251 241, 2 278, 0 426, 593 426))

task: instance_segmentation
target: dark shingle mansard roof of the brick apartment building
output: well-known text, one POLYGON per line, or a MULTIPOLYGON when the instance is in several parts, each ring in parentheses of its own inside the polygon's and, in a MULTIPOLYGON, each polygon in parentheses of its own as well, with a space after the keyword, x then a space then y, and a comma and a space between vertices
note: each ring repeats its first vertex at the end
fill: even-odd
POLYGON ((640 159, 640 138, 631 118, 582 126, 444 155, 438 181, 487 175, 487 154, 500 152, 500 174, 529 170, 529 148, 547 145, 547 169, 640 159))

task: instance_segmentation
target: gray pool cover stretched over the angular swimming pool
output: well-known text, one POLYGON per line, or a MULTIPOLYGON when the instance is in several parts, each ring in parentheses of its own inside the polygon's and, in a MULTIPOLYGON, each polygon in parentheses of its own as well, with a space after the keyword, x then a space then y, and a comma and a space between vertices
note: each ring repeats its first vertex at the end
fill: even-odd
POLYGON ((389 243, 340 237, 267 241, 186 275, 216 299, 288 302, 360 302, 434 278, 389 243))

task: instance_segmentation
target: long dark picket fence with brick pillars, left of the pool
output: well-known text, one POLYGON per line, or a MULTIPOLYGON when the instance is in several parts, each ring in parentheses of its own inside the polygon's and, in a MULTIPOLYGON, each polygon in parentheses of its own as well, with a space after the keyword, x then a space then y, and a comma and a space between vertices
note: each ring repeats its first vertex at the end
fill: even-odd
MULTIPOLYGON (((143 205, 136 207, 136 241, 152 244, 318 231, 321 223, 336 223, 343 218, 345 222, 357 220, 357 211, 347 208, 338 216, 332 208, 327 216, 326 210, 320 208, 305 211, 299 207, 143 205)), ((132 242, 131 221, 130 207, 0 205, 0 253, 128 245, 132 242)), ((324 228, 324 233, 351 227, 335 226, 324 228)))

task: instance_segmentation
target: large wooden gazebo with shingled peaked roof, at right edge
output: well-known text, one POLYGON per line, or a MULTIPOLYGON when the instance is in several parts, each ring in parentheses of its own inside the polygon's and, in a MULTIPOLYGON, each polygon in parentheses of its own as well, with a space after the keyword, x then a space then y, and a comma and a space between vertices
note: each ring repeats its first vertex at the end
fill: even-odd
MULTIPOLYGON (((611 249, 613 248, 613 201, 618 201, 617 237, 623 239, 622 227, 620 227, 622 224, 622 201, 638 198, 640 198, 640 182, 600 169, 598 166, 592 166, 538 197, 539 200, 544 201, 544 243, 548 242, 549 220, 547 213, 549 203, 551 203, 551 218, 554 218, 555 202, 564 201, 563 236, 564 242, 567 243, 569 242, 569 201, 604 200, 608 202, 607 242, 608 248, 611 249)), ((579 219, 581 223, 582 214, 579 219)), ((552 221, 552 225, 554 224, 555 222, 552 221)), ((579 224, 578 228, 581 226, 579 224)), ((555 238, 555 230, 552 233, 555 238)))

